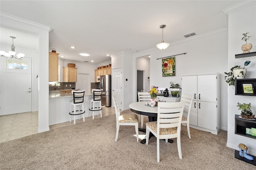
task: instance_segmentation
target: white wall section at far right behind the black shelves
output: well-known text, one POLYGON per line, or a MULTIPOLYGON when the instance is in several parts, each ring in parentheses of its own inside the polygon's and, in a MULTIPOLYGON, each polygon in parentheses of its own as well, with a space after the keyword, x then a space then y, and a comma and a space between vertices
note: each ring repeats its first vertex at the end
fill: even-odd
MULTIPOLYGON (((234 12, 228 14, 228 71, 235 65, 244 65, 246 60, 251 63, 246 66, 247 79, 256 78, 256 56, 244 57, 235 59, 235 54, 242 53, 241 46, 244 44, 242 41, 242 34, 249 32, 250 38, 247 43, 252 43, 253 47, 256 45, 256 2, 247 6, 246 8, 238 8, 234 12)), ((256 51, 252 48, 251 52, 256 51)), ((235 115, 239 115, 237 103, 251 103, 252 112, 256 115, 256 97, 255 96, 241 96, 235 95, 235 89, 228 87, 228 140, 227 146, 238 150, 238 144, 243 143, 248 146, 248 154, 256 156, 256 140, 245 136, 234 134, 235 132, 235 115)))

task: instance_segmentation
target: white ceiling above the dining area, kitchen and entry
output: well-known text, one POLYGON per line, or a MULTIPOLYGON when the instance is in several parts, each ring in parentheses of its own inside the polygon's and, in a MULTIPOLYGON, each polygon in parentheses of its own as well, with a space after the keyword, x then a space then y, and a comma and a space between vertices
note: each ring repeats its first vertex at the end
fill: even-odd
MULTIPOLYGON (((162 40, 161 24, 166 24, 164 41, 168 43, 183 40, 184 35, 192 32, 200 35, 225 28, 227 16, 222 10, 238 2, 241 0, 1 0, 0 10, 50 26, 49 49, 55 48, 64 59, 94 60, 97 64, 111 59, 106 54, 156 48, 162 40), (82 57, 79 55, 82 52, 90 56, 82 57)), ((1 29, 1 44, 11 45, 9 36, 14 35, 6 35, 5 31, 11 34, 1 29)), ((23 36, 16 36, 16 47, 33 45, 23 36)))

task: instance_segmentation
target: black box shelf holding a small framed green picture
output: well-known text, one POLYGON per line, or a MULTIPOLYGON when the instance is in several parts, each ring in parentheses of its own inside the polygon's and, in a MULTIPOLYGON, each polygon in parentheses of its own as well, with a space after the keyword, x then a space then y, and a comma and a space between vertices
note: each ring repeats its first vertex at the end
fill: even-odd
POLYGON ((235 95, 256 96, 256 79, 236 79, 235 95), (252 84, 253 93, 244 93, 243 84, 252 84))

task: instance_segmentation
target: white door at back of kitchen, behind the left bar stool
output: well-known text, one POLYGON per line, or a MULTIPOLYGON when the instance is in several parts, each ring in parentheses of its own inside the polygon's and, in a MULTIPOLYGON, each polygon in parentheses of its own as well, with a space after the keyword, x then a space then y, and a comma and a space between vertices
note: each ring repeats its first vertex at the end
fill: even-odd
POLYGON ((90 93, 90 75, 89 74, 78 73, 76 89, 85 90, 85 94, 90 93))

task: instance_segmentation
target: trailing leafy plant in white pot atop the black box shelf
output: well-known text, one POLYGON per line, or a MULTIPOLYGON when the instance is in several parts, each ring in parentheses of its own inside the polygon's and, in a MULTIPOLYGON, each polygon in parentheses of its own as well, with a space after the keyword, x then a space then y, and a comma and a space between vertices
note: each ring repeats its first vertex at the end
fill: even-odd
POLYGON ((245 61, 244 62, 244 68, 240 69, 240 65, 236 65, 230 69, 230 72, 226 73, 225 81, 230 86, 235 86, 235 80, 236 79, 244 79, 246 75, 246 69, 245 66, 249 65, 251 61, 245 61))

